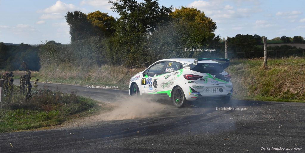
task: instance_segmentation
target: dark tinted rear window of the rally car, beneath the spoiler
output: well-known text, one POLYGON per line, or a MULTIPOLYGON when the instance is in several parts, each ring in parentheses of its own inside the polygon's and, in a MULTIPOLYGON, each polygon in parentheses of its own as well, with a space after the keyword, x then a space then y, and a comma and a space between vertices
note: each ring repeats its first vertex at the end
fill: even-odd
POLYGON ((222 73, 224 68, 219 63, 198 63, 191 70, 200 73, 222 73))

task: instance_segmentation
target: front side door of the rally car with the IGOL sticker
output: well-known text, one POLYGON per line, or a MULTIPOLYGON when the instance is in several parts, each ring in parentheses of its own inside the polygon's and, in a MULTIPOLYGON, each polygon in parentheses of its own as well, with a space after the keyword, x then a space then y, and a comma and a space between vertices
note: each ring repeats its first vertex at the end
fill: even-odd
POLYGON ((158 75, 163 74, 166 61, 161 61, 150 66, 144 73, 145 77, 141 79, 141 90, 144 94, 157 94, 159 80, 158 75))

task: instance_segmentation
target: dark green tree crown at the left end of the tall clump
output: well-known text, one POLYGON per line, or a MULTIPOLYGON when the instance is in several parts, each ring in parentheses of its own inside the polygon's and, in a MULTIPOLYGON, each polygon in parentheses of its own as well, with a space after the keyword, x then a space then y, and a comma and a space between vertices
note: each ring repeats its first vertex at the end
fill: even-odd
POLYGON ((66 22, 70 26, 71 41, 87 39, 92 35, 92 26, 85 13, 74 11, 66 14, 66 22))

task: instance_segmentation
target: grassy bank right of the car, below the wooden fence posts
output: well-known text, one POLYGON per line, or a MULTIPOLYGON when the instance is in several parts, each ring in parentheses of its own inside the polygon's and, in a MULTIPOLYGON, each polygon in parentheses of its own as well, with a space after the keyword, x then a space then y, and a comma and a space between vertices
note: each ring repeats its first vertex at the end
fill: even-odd
POLYGON ((305 101, 305 59, 232 60, 231 74, 236 99, 264 101, 305 101))

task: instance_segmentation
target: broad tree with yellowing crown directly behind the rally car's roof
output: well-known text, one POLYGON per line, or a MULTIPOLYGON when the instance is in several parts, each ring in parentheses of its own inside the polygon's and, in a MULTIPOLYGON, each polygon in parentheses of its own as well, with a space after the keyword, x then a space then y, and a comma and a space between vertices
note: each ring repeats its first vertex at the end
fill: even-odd
POLYGON ((170 13, 172 21, 160 25, 149 35, 148 50, 151 59, 209 56, 209 52, 185 49, 211 49, 220 38, 215 37, 216 24, 196 8, 181 7, 170 13))

